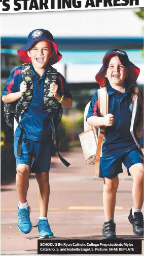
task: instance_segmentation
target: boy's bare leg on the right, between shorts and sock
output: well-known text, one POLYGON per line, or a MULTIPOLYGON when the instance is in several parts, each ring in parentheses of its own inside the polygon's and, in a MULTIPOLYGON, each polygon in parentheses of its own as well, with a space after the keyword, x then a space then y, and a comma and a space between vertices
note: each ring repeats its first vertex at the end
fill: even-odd
POLYGON ((36 173, 35 175, 39 184, 40 216, 47 217, 50 195, 49 172, 36 173))

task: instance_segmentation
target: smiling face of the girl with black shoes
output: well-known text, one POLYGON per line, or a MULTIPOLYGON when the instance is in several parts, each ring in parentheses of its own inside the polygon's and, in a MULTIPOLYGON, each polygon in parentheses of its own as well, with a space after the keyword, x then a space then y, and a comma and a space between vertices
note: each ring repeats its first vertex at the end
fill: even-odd
POLYGON ((128 68, 125 67, 118 56, 111 58, 108 63, 105 78, 107 78, 111 85, 124 87, 124 80, 128 77, 128 68))

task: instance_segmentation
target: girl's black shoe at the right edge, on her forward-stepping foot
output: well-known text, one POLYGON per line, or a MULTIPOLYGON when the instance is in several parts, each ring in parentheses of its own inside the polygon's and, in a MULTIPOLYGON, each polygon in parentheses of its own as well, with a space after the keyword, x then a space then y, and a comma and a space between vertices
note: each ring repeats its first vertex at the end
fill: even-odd
POLYGON ((143 235, 143 214, 141 212, 135 212, 132 215, 132 209, 130 210, 130 214, 128 216, 129 222, 133 226, 133 234, 136 236, 143 235))

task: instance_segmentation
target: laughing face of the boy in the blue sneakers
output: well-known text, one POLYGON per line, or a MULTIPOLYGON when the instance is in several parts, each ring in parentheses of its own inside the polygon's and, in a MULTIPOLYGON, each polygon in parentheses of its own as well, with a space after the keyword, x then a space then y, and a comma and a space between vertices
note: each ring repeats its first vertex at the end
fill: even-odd
POLYGON ((49 59, 53 55, 51 43, 48 41, 38 41, 27 51, 31 58, 34 69, 43 69, 47 66, 49 59))

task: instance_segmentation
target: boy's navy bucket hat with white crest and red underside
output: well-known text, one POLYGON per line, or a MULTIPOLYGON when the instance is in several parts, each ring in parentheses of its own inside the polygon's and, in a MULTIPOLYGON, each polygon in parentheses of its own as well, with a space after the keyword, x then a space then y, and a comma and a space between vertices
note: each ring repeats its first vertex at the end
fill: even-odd
POLYGON ((53 65, 61 60, 62 55, 58 52, 58 46, 54 42, 52 34, 48 30, 38 29, 29 33, 27 43, 17 50, 20 60, 23 62, 31 62, 27 55, 27 50, 37 41, 49 41, 53 45, 53 56, 49 60, 49 65, 53 65))

